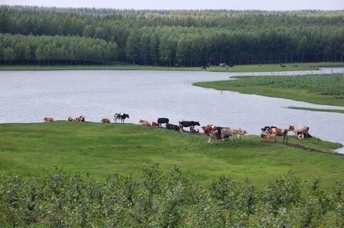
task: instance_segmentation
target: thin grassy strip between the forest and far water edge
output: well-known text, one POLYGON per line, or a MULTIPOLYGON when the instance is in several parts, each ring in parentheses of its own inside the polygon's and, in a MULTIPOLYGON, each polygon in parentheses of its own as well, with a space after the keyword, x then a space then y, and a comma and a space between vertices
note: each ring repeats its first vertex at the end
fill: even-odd
MULTIPOLYGON (((237 65, 235 67, 208 67, 207 71, 219 72, 268 72, 268 71, 303 71, 314 70, 316 67, 344 67, 344 62, 296 62, 288 63, 286 67, 279 64, 237 65), (296 66, 297 67, 294 67, 296 66)), ((105 66, 0 66, 1 70, 162 70, 162 71, 202 71, 201 67, 154 67, 141 65, 105 65, 105 66)), ((203 70, 205 71, 205 70, 203 70)))

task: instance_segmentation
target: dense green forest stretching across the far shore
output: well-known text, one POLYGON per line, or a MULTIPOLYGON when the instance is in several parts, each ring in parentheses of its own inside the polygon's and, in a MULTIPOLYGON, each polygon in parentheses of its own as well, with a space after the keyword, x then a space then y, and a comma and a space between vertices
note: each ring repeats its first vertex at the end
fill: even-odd
POLYGON ((344 10, 114 10, 0 5, 0 65, 195 67, 343 62, 344 10))

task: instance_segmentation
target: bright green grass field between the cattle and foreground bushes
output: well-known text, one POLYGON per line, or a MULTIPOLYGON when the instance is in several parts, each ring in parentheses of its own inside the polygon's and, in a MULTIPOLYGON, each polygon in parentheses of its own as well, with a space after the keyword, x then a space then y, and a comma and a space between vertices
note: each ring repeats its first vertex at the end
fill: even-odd
POLYGON ((327 187, 344 181, 344 157, 331 154, 341 145, 316 138, 299 141, 290 137, 289 142, 328 154, 262 143, 253 135, 245 135, 241 143, 207 144, 208 137, 201 135, 136 124, 0 124, 0 135, 1 174, 44 176, 58 166, 70 174, 89 173, 96 179, 116 171, 132 172, 138 178, 150 160, 160 163, 165 173, 178 165, 201 183, 230 175, 237 181, 248 177, 264 186, 290 170, 305 180, 319 176, 327 187))

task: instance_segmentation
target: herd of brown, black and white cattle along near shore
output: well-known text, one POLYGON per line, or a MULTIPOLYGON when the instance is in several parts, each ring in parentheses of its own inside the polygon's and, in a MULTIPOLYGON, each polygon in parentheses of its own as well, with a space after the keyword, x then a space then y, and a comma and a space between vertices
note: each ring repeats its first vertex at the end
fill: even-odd
MULTIPOLYGON (((114 114, 114 122, 117 123, 117 120, 120 119, 120 122, 122 124, 125 123, 125 119, 129 119, 129 115, 125 113, 115 113, 114 114)), ((44 122, 53 122, 54 119, 52 117, 45 117, 44 122)), ((85 122, 85 116, 80 115, 79 117, 68 117, 67 122, 85 122)), ((109 124, 110 119, 103 118, 100 120, 103 124, 109 124)), ((200 122, 196 121, 185 121, 182 120, 179 122, 179 124, 170 124, 169 119, 166 117, 160 117, 158 118, 157 122, 149 122, 147 120, 140 119, 139 124, 142 124, 142 126, 151 126, 151 127, 161 127, 162 124, 165 124, 165 128, 169 130, 177 130, 177 131, 185 131, 184 128, 189 128, 190 133, 195 134, 202 134, 207 135, 210 137, 208 140, 208 143, 211 144, 214 142, 215 139, 224 139, 229 138, 230 141, 233 141, 233 137, 235 136, 237 138, 237 141, 241 141, 241 135, 246 135, 246 130, 242 130, 239 127, 235 128, 228 128, 228 127, 221 127, 221 126, 215 126, 212 124, 208 124, 206 126, 202 126, 203 132, 200 133, 198 129, 195 129, 195 126, 200 126, 200 122)), ((295 133, 298 139, 302 140, 307 137, 312 137, 309 131, 308 126, 288 126, 288 128, 277 128, 276 126, 265 126, 264 128, 261 128, 261 134, 259 135, 261 137, 261 140, 269 140, 273 139, 276 142, 277 137, 283 137, 283 142, 286 141, 288 143, 288 132, 292 131, 295 133)))

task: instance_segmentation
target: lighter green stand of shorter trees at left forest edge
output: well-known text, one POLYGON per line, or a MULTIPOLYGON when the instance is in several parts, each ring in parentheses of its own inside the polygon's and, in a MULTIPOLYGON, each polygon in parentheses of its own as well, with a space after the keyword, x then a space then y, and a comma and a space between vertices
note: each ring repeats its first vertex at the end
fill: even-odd
POLYGON ((89 65, 116 58, 116 43, 98 38, 0 34, 0 62, 5 65, 89 65))

